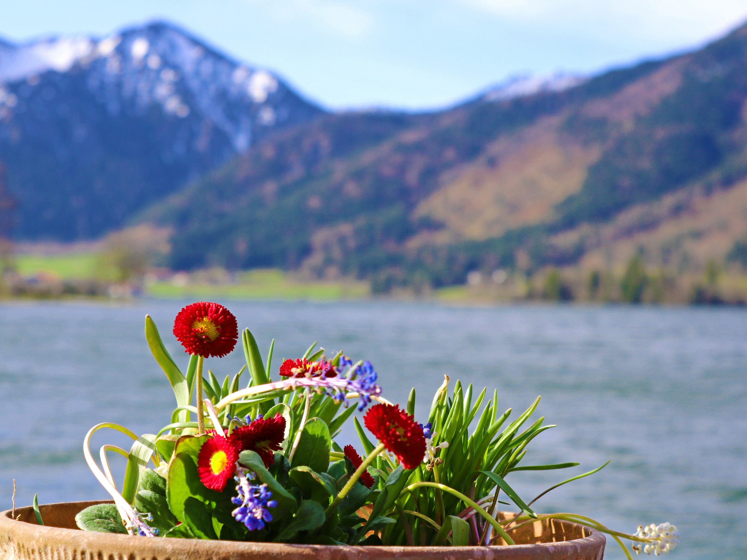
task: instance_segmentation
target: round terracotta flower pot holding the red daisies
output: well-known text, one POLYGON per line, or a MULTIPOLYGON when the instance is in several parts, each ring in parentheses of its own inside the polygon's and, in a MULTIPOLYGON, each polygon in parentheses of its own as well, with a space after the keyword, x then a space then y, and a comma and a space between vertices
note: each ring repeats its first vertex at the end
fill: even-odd
MULTIPOLYGON (((45 526, 30 507, 0 514, 1 560, 601 560, 601 532, 545 520, 518 529, 515 547, 328 547, 314 544, 199 541, 81 531, 75 514, 103 502, 40 505, 45 526), (519 544, 520 543, 520 544, 519 544)), ((504 515, 512 515, 506 513, 504 515)))

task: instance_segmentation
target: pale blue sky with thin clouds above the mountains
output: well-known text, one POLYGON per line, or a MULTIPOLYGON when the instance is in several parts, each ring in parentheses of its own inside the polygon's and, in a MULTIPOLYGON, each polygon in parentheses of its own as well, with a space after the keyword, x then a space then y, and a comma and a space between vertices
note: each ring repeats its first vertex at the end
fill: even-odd
POLYGON ((597 72, 707 42, 744 0, 1 1, 0 37, 169 19, 330 108, 435 108, 522 73, 597 72))

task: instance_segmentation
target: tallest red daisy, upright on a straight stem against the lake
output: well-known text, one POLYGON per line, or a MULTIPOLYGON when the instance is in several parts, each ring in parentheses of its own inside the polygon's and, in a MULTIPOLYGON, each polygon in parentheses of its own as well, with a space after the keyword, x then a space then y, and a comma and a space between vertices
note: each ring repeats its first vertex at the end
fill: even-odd
POLYGON ((217 303, 193 303, 176 315, 174 336, 190 354, 223 358, 238 340, 236 317, 217 303))

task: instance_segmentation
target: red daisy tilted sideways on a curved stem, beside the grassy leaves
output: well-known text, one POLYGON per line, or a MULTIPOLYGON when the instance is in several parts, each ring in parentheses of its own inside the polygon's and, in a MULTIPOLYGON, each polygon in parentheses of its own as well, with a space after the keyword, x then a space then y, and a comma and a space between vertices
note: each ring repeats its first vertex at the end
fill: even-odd
POLYGON ((384 447, 394 453, 406 469, 414 469, 425 455, 425 436, 415 418, 400 410, 399 405, 374 405, 364 423, 384 447))

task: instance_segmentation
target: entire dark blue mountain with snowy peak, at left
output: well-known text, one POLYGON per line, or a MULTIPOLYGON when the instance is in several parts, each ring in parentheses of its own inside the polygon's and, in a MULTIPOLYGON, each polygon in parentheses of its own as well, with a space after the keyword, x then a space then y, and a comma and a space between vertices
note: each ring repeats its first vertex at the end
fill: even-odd
POLYGON ((164 22, 10 46, 0 75, 14 78, 0 80, 0 161, 26 239, 122 227, 272 131, 325 112, 164 22))

